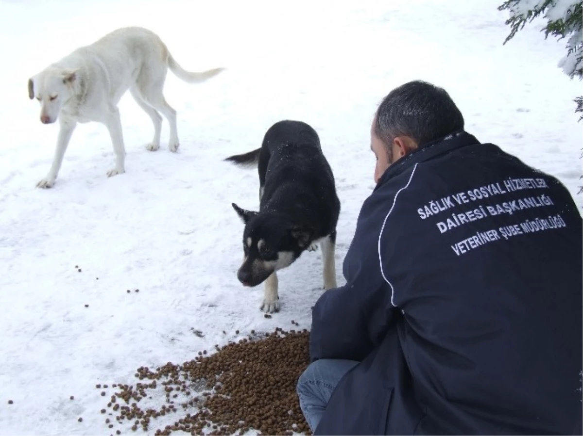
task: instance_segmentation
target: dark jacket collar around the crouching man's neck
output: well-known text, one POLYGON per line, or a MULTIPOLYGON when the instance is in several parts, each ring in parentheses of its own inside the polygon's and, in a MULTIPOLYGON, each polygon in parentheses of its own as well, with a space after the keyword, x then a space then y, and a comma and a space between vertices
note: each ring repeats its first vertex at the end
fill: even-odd
POLYGON ((378 180, 377 186, 375 186, 374 190, 377 190, 381 185, 387 182, 387 180, 398 176, 407 168, 410 168, 410 166, 418 164, 419 162, 429 161, 431 158, 440 154, 448 153, 456 148, 471 146, 474 144, 480 144, 480 141, 478 141, 473 135, 465 132, 465 130, 458 130, 457 132, 450 133, 440 139, 424 144, 405 157, 399 159, 395 164, 389 166, 387 171, 381 176, 380 180, 378 180))

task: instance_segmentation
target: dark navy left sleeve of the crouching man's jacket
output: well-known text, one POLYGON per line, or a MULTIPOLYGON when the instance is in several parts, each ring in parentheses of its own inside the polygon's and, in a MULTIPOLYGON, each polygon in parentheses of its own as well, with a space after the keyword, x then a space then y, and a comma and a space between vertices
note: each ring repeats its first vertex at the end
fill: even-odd
POLYGON ((370 204, 378 201, 367 201, 343 265, 346 285, 327 290, 312 309, 311 361, 362 361, 394 321, 397 309, 392 306, 391 288, 382 278, 378 257, 384 215, 380 217, 370 204))

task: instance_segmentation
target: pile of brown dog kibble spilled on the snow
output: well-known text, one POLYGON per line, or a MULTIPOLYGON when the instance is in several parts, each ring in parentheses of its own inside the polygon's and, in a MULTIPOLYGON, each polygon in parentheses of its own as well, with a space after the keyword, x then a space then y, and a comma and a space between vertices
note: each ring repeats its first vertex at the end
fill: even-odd
POLYGON ((169 436, 175 431, 243 435, 251 429, 266 436, 311 435, 296 394, 297 380, 309 363, 308 337, 306 330, 287 332, 279 327, 262 336, 251 331, 248 338, 237 343, 222 348, 216 345, 213 355, 203 350, 181 365, 169 362, 156 371, 138 368, 135 375, 140 382, 135 386, 112 385, 118 392, 111 395, 108 409, 101 409, 101 413, 115 412, 117 425, 110 422, 113 417, 107 418, 106 424, 110 429, 122 428, 124 434, 128 429, 156 428, 157 417, 176 413, 180 419, 157 428, 156 436, 169 436), (142 409, 141 400, 151 398, 153 390, 160 387, 166 405, 160 410, 142 409))

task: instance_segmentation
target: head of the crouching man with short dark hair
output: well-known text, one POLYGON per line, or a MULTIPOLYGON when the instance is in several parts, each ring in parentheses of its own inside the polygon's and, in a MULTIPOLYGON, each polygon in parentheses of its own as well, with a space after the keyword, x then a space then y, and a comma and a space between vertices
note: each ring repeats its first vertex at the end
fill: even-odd
POLYGON ((375 183, 398 159, 461 129, 462 113, 444 89, 420 80, 395 88, 382 100, 371 126, 375 183))

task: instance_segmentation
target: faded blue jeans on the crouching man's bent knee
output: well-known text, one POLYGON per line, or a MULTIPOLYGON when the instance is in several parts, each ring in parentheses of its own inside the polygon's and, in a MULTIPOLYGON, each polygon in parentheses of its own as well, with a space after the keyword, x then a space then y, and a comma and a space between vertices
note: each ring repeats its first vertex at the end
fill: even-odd
POLYGON ((300 398, 301 411, 312 432, 322 419, 338 382, 358 363, 354 360, 316 360, 300 375, 296 391, 300 398))

